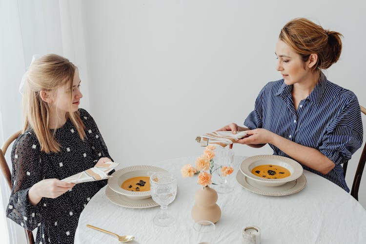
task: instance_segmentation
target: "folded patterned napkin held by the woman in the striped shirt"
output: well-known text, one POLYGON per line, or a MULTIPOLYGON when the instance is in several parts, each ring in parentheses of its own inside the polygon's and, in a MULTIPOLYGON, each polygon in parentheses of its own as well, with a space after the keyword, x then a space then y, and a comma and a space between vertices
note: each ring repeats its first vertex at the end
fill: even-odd
POLYGON ((231 131, 214 131, 197 137, 196 141, 200 142, 201 146, 216 144, 225 147, 238 141, 239 139, 244 138, 245 136, 246 131, 238 131, 237 134, 233 134, 231 131))

